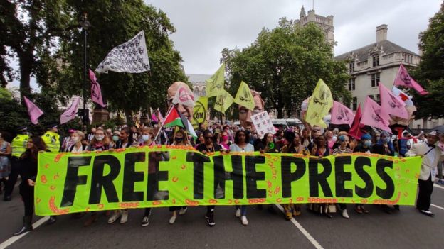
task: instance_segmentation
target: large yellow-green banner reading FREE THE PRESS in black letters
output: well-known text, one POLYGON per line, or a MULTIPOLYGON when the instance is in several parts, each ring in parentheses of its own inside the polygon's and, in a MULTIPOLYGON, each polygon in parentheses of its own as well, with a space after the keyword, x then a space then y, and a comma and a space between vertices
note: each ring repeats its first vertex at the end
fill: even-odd
POLYGON ((158 206, 413 205, 421 157, 214 153, 152 146, 39 153, 37 215, 158 206))

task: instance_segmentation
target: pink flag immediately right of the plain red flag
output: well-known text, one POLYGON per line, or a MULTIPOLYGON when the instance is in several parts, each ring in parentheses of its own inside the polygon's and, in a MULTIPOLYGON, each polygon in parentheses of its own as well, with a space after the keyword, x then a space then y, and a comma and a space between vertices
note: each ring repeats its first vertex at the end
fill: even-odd
POLYGON ((388 118, 381 106, 367 96, 361 123, 391 132, 391 128, 388 127, 388 118))

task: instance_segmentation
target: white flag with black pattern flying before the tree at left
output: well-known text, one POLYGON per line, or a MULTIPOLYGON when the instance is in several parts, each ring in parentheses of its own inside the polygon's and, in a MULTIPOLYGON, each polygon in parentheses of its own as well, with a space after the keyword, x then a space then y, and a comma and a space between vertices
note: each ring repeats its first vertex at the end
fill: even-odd
POLYGON ((144 31, 140 31, 131 40, 113 48, 95 71, 104 73, 108 73, 108 71, 131 73, 149 71, 144 31))

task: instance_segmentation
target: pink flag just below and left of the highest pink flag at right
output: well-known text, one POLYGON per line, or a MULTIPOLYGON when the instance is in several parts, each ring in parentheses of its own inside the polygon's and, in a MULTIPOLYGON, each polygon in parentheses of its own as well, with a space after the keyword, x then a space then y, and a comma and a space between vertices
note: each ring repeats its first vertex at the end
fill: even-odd
POLYGON ((408 118, 406 103, 381 82, 379 82, 379 96, 381 96, 382 111, 384 111, 386 116, 391 114, 400 118, 408 118))

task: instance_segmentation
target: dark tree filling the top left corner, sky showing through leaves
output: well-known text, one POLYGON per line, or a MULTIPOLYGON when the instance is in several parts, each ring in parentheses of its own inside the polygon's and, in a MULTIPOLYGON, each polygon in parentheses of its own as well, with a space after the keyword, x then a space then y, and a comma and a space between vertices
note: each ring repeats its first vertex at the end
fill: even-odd
POLYGON ((0 83, 14 79, 8 58, 19 65, 20 92, 31 93, 31 76, 39 77, 43 57, 56 48, 57 38, 75 26, 70 23, 63 0, 0 1, 0 83), (5 77, 6 76, 6 77, 5 77))

